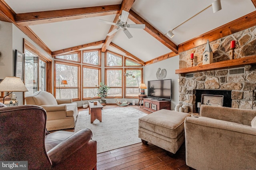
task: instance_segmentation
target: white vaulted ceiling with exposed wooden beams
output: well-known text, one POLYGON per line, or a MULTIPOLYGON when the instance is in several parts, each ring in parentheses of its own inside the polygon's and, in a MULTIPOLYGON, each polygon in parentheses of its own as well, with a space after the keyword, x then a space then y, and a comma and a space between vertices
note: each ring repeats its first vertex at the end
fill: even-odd
POLYGON ((216 13, 212 12, 212 2, 0 0, 0 20, 13 22, 53 56, 101 48, 103 52, 114 51, 145 65, 204 44, 207 39, 216 40, 256 25, 256 0, 221 0, 222 10, 216 13), (99 19, 116 22, 122 10, 130 13, 128 24, 145 24, 145 29, 128 28, 133 36, 130 39, 122 31, 106 36, 116 26, 99 19), (172 29, 175 36, 170 38, 165 34, 172 29))

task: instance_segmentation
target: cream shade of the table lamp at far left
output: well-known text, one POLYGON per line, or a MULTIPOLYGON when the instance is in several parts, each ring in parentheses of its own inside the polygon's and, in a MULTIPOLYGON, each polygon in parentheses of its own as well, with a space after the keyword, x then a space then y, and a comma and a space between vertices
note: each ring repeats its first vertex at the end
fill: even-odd
POLYGON ((0 91, 28 91, 19 77, 5 77, 0 83, 0 91))

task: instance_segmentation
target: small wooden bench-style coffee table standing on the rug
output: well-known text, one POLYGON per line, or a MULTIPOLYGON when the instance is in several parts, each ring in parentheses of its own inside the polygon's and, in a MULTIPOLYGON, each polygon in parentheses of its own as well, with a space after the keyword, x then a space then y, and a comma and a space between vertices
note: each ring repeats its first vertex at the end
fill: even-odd
POLYGON ((93 123, 96 119, 100 122, 101 120, 101 110, 103 106, 98 101, 89 101, 89 115, 91 115, 91 123, 93 123), (94 102, 97 102, 97 105, 94 105, 94 102))

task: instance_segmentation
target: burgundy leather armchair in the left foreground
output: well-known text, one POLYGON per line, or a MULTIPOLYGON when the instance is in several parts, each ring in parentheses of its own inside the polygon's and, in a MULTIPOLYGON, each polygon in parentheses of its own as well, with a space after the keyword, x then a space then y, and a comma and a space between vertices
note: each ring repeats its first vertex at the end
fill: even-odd
POLYGON ((0 160, 28 161, 28 169, 96 170, 92 131, 46 130, 46 112, 35 105, 0 108, 0 160))

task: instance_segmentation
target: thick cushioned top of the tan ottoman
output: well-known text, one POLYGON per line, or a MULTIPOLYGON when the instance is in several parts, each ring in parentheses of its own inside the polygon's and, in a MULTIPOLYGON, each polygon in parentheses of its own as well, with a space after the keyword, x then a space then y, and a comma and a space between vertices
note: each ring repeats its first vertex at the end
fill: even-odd
POLYGON ((139 127, 174 139, 184 131, 184 120, 188 116, 190 116, 188 113, 162 109, 141 117, 139 127))

